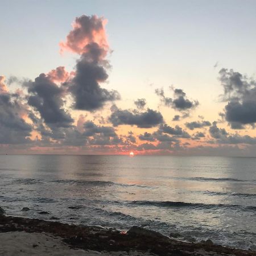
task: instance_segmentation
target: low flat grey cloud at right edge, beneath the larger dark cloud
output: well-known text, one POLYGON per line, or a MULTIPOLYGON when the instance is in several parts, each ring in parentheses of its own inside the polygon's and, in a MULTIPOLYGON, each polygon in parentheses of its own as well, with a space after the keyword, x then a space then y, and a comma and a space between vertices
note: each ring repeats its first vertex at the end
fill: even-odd
POLYGON ((256 144, 255 137, 229 134, 225 129, 218 128, 217 122, 213 122, 209 127, 209 133, 220 144, 256 144))

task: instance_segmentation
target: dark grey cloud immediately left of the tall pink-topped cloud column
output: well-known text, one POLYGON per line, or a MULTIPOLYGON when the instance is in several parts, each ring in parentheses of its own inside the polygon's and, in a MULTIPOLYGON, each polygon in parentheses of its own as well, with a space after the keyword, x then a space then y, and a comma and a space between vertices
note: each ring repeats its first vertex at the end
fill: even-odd
POLYGON ((57 86, 44 73, 36 77, 34 82, 26 82, 24 85, 28 87, 28 104, 40 113, 47 125, 71 126, 73 119, 63 108, 65 95, 63 87, 57 86))

